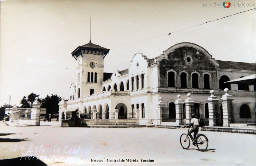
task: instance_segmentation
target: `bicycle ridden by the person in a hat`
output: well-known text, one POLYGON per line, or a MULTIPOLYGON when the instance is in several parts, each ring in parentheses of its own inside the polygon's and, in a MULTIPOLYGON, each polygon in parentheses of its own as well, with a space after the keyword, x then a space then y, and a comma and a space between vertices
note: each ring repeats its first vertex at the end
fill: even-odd
MULTIPOLYGON (((190 125, 187 126, 188 127, 188 132, 189 132, 189 128, 190 128, 190 125)), ((196 139, 193 138, 193 136, 189 133, 185 134, 181 134, 180 136, 180 145, 183 147, 183 149, 188 149, 189 146, 190 146, 190 139, 192 140, 193 142, 193 145, 194 146, 197 146, 198 150, 199 151, 206 151, 207 147, 208 147, 208 138, 204 135, 204 134, 196 134, 196 139)))

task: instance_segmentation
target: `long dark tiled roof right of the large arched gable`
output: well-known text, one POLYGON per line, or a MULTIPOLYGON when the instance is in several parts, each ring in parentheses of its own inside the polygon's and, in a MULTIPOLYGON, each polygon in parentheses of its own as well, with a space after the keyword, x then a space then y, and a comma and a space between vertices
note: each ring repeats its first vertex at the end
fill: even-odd
POLYGON ((245 62, 231 62, 231 61, 219 61, 220 69, 232 69, 232 70, 249 70, 256 71, 256 64, 245 63, 245 62))

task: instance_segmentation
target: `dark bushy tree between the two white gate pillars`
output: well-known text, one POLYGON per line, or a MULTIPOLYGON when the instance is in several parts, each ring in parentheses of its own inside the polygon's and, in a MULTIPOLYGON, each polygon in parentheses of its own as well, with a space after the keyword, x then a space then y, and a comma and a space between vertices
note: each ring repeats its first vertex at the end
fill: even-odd
POLYGON ((47 94, 47 96, 44 99, 42 99, 41 108, 46 108, 46 114, 58 113, 60 101, 61 97, 57 94, 52 94, 51 96, 47 94))

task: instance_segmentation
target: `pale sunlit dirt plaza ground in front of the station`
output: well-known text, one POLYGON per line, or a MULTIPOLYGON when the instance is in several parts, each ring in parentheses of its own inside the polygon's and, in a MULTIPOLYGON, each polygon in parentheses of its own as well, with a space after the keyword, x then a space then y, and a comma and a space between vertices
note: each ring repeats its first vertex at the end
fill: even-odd
POLYGON ((56 122, 40 123, 23 127, 1 121, 0 160, 36 156, 47 165, 227 166, 256 162, 253 134, 199 131, 209 139, 208 151, 200 152, 192 144, 188 150, 181 148, 180 135, 187 128, 61 128, 56 122), (95 159, 103 162, 92 162, 95 159))

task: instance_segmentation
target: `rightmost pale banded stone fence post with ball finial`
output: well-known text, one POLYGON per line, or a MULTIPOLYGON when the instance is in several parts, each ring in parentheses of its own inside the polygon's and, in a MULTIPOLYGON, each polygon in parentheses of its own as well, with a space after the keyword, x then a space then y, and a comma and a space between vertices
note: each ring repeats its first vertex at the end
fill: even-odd
POLYGON ((223 110, 223 127, 229 127, 231 123, 231 113, 233 111, 232 101, 234 98, 230 94, 228 94, 228 88, 224 89, 225 94, 220 99, 222 102, 222 110, 223 110))

